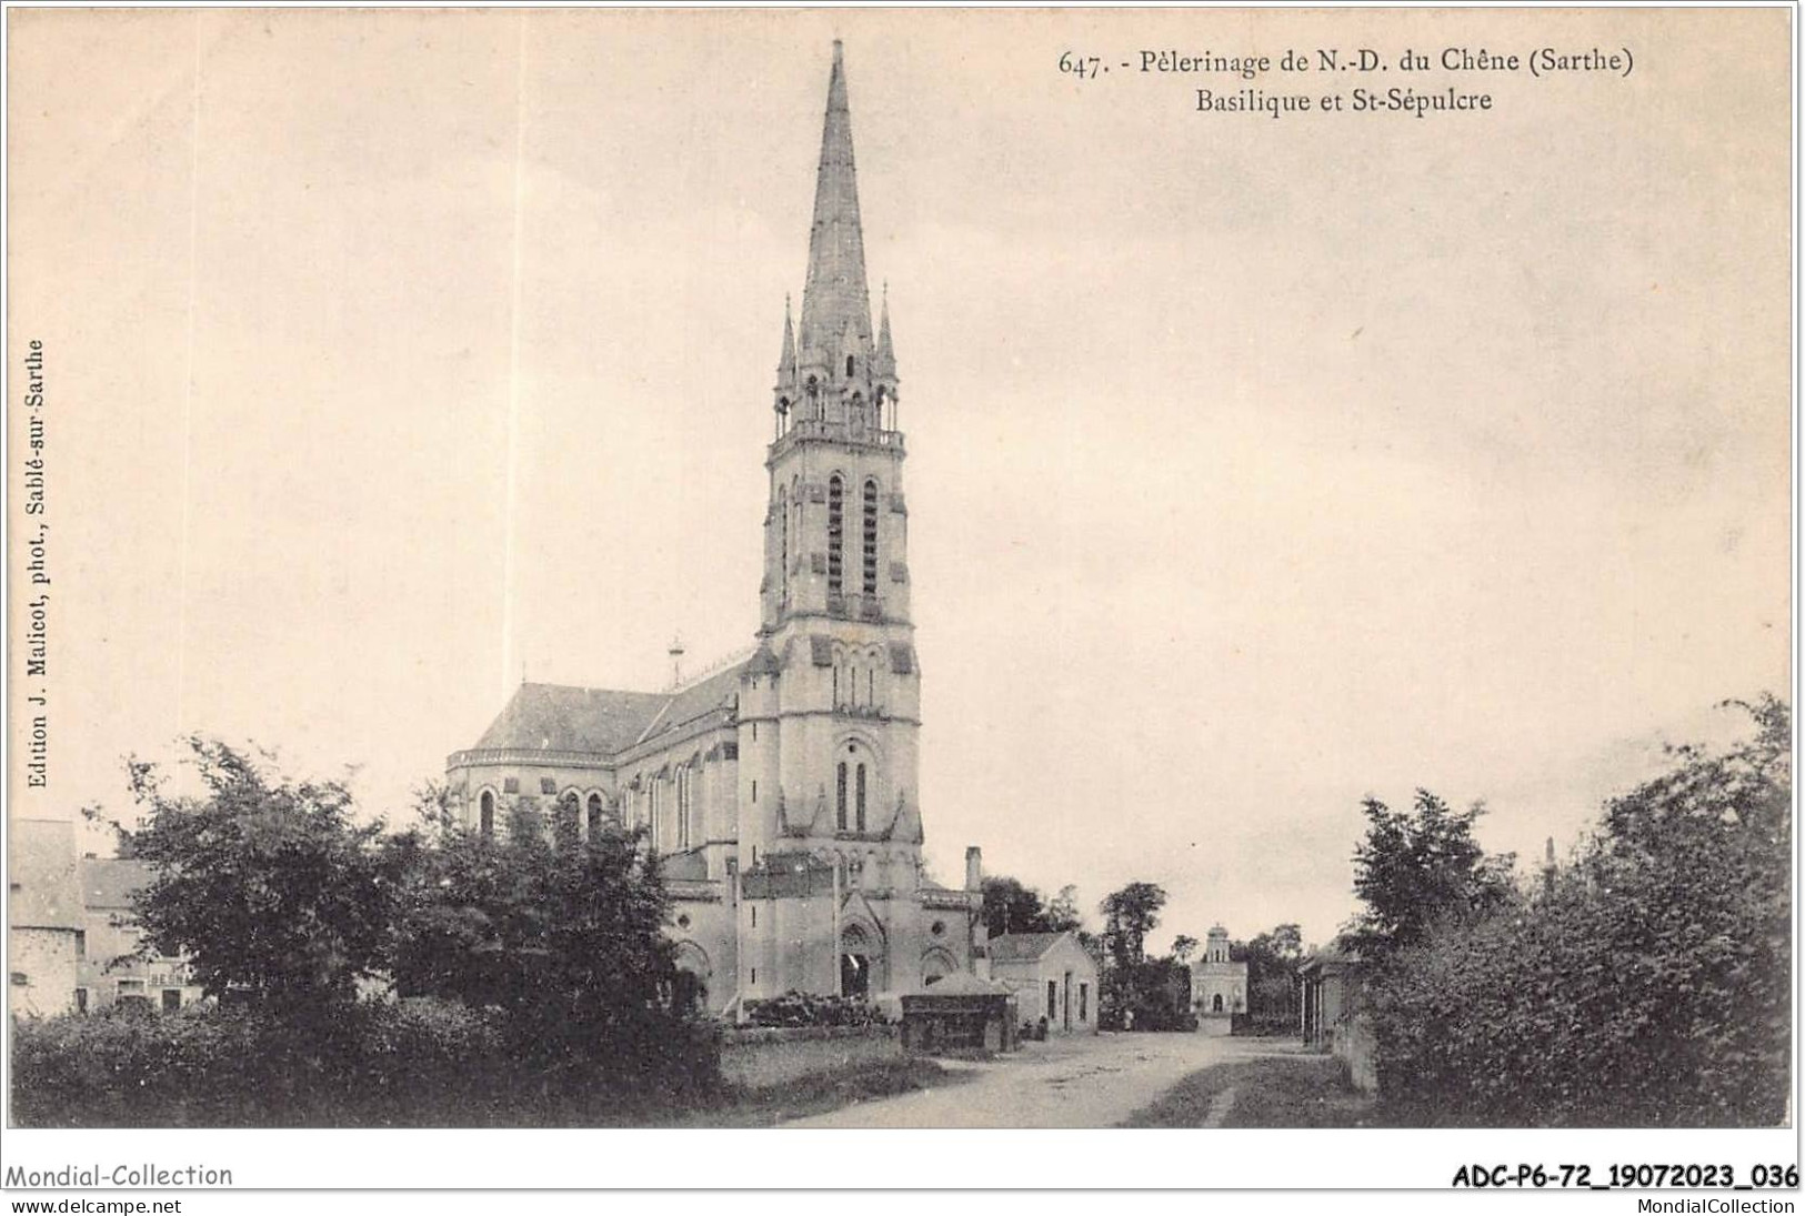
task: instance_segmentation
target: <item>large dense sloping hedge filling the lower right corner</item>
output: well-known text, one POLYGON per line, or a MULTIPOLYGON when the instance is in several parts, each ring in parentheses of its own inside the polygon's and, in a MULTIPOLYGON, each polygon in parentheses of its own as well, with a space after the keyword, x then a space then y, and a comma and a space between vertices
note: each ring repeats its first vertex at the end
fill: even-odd
POLYGON ((1778 1126, 1791 1037, 1791 723, 1606 806, 1536 897, 1370 983, 1388 1120, 1778 1126))

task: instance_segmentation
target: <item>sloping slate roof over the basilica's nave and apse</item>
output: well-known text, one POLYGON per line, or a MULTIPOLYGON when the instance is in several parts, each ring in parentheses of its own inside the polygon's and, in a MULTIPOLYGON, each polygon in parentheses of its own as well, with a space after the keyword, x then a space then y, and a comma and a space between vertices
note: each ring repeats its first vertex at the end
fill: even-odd
POLYGON ((475 751, 525 749, 616 756, 713 709, 729 709, 744 662, 673 693, 522 684, 475 751))

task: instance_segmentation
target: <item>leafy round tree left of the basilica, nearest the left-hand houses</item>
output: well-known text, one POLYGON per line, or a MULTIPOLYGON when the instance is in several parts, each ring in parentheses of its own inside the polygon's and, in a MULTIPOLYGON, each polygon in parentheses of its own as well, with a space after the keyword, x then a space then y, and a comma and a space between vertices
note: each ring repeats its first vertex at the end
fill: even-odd
POLYGON ((121 844, 152 866, 134 897, 139 954, 186 956, 209 996, 318 1009, 381 971, 404 859, 381 823, 352 823, 338 781, 291 781, 247 752, 190 736, 202 792, 168 792, 132 760, 141 826, 121 844))

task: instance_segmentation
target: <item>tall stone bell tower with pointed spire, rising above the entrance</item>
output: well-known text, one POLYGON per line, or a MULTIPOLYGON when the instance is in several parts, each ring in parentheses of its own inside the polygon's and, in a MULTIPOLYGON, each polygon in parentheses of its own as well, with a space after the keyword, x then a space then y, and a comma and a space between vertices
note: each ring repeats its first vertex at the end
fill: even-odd
POLYGON ((872 327, 836 41, 801 309, 785 305, 773 390, 760 648, 740 702, 751 812, 740 852, 751 866, 754 844, 760 857, 825 848, 856 889, 913 891, 921 698, 899 384, 888 294, 872 327))

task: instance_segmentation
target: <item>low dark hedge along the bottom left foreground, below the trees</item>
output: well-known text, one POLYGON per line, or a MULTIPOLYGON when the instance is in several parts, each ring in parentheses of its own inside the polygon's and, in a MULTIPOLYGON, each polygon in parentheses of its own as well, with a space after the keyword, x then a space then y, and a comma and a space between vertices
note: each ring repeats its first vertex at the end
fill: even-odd
POLYGON ((13 1117, 32 1128, 621 1124, 718 1086, 702 1027, 670 1036, 630 1079, 552 1075, 511 1052, 511 1034, 500 1010, 437 998, 366 1001, 327 1025, 209 1005, 23 1019, 13 1117))

